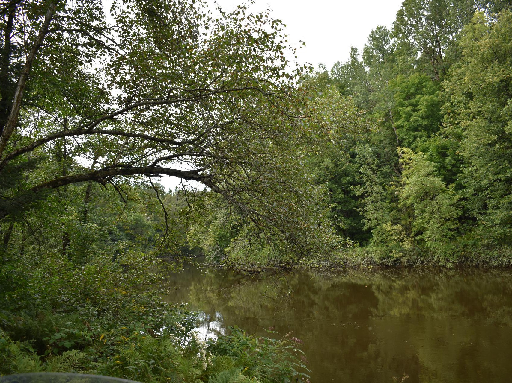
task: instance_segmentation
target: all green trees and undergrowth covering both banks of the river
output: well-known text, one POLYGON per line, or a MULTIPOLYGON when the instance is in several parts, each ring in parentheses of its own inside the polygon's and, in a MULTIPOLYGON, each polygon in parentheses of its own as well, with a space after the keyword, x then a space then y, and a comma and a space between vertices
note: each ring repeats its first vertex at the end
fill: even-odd
POLYGON ((509 265, 510 7, 406 0, 327 70, 248 5, 3 0, 0 374, 305 380, 288 337, 161 302, 189 256, 509 265))

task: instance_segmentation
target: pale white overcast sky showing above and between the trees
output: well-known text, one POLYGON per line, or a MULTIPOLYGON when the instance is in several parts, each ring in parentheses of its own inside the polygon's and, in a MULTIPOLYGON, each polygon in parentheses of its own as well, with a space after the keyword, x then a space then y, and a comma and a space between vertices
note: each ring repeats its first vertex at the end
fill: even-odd
MULTIPOLYGON (((362 51, 368 35, 378 25, 391 28, 403 0, 254 0, 251 10, 271 10, 271 17, 286 24, 290 42, 306 43, 297 52, 297 60, 327 69, 336 61, 349 59, 350 47, 362 51)), ((216 0, 225 10, 236 8, 241 0, 216 0)), ((213 5, 214 0, 211 0, 213 5)), ((163 177, 167 189, 179 185, 179 179, 163 177)))

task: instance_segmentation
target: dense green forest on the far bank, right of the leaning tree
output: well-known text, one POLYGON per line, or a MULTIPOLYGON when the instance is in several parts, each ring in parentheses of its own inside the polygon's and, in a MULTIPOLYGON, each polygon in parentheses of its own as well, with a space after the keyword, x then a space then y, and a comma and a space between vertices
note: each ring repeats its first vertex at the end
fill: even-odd
MULTIPOLYGON (((362 52, 302 76, 315 97, 340 96, 338 107, 360 118, 305 167, 327 189, 328 216, 345 240, 338 259, 510 263, 508 7, 406 1, 362 52)), ((240 223, 226 225, 223 212, 203 224, 201 246, 216 260, 238 259, 240 223)))

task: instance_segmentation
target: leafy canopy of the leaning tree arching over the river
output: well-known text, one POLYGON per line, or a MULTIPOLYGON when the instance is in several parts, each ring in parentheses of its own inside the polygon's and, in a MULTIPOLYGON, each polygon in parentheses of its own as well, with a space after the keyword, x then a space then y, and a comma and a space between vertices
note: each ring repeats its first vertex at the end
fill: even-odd
POLYGON ((301 164, 351 117, 297 87, 306 68, 280 20, 196 0, 109 14, 92 0, 7 2, 2 16, 0 219, 70 184, 170 175, 295 251, 315 247, 299 225, 335 242, 301 164))

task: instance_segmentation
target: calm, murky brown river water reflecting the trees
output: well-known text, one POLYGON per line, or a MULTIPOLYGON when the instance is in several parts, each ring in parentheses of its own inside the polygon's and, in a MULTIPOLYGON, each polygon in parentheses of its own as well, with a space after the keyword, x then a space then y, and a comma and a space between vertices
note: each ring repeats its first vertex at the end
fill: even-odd
POLYGON ((512 381, 512 272, 350 271, 244 275, 186 266, 169 301, 229 325, 304 341, 312 383, 512 381), (400 381, 401 379, 398 379, 400 381))

